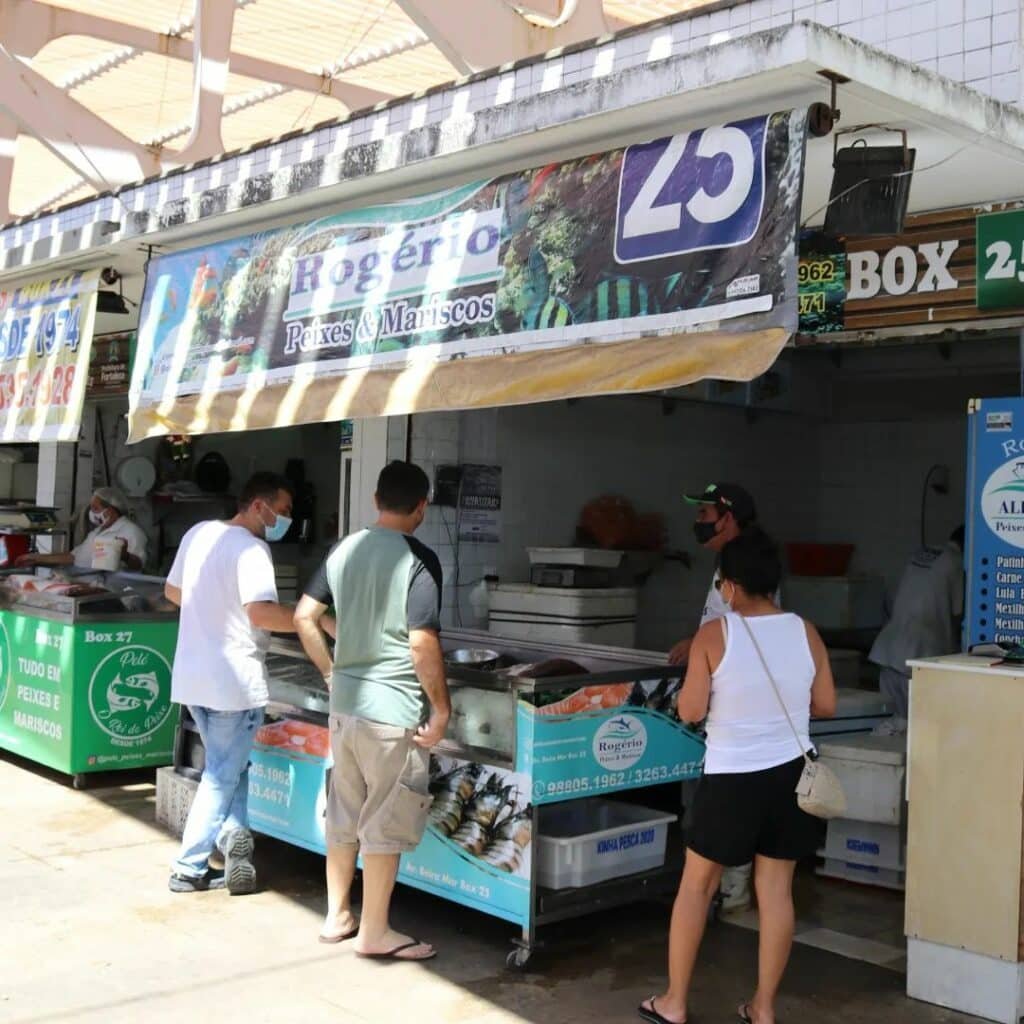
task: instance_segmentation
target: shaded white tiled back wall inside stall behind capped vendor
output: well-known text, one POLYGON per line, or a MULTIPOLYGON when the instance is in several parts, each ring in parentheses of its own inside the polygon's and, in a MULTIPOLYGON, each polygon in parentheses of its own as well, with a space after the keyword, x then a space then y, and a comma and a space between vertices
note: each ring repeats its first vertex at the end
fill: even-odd
MULTIPOLYGON (((667 649, 695 628, 712 571, 681 496, 715 479, 749 487, 780 542, 854 544, 852 570, 881 574, 891 590, 920 543, 930 466, 948 466, 951 486, 929 499, 929 543, 963 522, 966 402, 1013 393, 1013 346, 958 346, 950 362, 931 348, 852 352, 838 369, 802 356, 833 395, 825 416, 764 414, 750 422, 742 409, 695 402, 665 415, 656 398, 623 397, 415 417, 413 459, 431 475, 450 461, 503 470, 503 544, 458 548, 463 623, 475 625, 468 596, 487 568, 525 580, 527 546, 571 544, 584 504, 620 494, 641 513, 662 514, 670 549, 693 557, 690 569, 667 561, 641 591, 638 644, 667 649)), ((404 422, 392 421, 391 458, 404 457, 404 422)), ((457 548, 449 529, 454 536, 454 511, 432 508, 420 536, 441 558, 445 621, 454 624, 457 548)))

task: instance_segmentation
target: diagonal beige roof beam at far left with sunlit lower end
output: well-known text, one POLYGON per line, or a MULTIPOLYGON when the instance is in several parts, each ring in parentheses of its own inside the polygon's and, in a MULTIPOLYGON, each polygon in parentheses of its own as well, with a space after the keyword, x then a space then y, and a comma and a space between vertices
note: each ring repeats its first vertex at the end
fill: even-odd
POLYGON ((156 156, 0 47, 0 111, 96 191, 160 172, 156 156))

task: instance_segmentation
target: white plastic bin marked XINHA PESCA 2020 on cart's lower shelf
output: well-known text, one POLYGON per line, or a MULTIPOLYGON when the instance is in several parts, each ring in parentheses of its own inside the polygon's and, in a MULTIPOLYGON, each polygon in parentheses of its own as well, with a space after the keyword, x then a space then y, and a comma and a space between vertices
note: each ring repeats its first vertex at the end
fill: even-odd
POLYGON ((548 889, 578 889, 660 867, 676 819, 600 797, 542 808, 538 879, 548 889))

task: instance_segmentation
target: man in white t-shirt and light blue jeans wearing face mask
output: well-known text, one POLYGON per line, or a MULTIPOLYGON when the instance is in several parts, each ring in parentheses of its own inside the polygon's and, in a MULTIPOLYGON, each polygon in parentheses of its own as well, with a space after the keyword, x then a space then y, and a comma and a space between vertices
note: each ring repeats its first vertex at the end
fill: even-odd
POLYGON ((178 548, 165 593, 181 608, 171 698, 199 728, 206 767, 193 801, 170 890, 256 887, 248 826, 249 757, 267 702, 264 665, 271 633, 294 633, 295 609, 278 602, 266 542, 292 523, 292 492, 276 473, 256 473, 226 522, 193 526, 178 548), (214 851, 224 869, 211 869, 214 851))

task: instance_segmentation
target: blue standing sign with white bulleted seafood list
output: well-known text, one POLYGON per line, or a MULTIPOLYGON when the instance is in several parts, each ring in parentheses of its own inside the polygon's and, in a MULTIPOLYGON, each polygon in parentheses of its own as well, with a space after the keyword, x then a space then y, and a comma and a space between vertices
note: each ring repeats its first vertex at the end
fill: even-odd
POLYGON ((1024 643, 1024 398, 968 409, 969 647, 1024 643))

